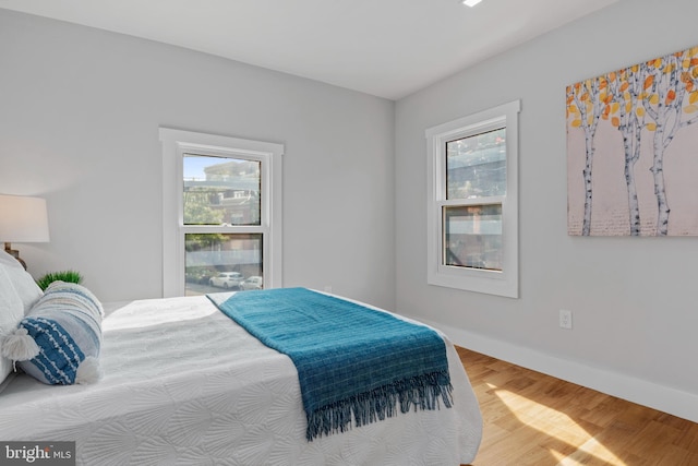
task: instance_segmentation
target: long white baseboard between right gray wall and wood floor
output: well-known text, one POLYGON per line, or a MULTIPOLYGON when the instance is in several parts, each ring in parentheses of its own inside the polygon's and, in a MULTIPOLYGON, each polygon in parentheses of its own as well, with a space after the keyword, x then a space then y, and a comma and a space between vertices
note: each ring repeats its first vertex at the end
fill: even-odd
POLYGON ((455 345, 464 348, 698 422, 698 394, 557 358, 422 318, 417 320, 442 331, 455 345))

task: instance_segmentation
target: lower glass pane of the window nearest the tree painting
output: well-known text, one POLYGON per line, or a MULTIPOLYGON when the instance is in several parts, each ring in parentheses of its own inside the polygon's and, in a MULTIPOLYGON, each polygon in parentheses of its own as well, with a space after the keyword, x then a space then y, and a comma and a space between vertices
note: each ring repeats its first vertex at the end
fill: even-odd
POLYGON ((444 207, 444 265, 502 271, 502 205, 444 207))

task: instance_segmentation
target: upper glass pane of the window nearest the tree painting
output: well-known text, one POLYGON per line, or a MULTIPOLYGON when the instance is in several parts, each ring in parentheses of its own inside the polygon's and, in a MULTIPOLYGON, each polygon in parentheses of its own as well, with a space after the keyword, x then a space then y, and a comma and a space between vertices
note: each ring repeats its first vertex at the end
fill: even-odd
POLYGON ((446 199, 506 194, 506 128, 446 143, 446 199))

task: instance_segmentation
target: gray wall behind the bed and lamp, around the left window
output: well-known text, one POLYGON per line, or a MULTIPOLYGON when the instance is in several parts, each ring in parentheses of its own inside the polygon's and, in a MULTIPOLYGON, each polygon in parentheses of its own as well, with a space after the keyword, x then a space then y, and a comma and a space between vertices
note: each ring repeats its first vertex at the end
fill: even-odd
POLYGON ((158 127, 286 144, 284 283, 393 308, 394 103, 0 10, 0 193, 47 199, 29 272, 161 295, 158 127))

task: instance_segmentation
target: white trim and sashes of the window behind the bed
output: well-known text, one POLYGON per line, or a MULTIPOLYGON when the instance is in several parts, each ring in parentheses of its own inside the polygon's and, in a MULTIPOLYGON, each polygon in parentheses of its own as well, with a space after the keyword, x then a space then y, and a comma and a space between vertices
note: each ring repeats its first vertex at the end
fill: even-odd
POLYGON ((281 168, 282 144, 251 141, 222 135, 160 128, 163 143, 163 296, 183 296, 184 235, 197 227, 184 226, 183 219, 183 155, 242 156, 262 162, 261 227, 206 227, 220 232, 262 232, 263 279, 265 288, 282 286, 281 254, 281 168))

